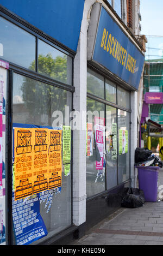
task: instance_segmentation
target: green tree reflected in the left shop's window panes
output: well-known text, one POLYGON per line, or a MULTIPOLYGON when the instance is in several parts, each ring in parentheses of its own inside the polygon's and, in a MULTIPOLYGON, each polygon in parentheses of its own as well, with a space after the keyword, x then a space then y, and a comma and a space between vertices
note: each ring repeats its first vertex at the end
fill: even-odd
MULTIPOLYGON (((35 61, 32 62, 29 68, 35 70, 35 61)), ((66 56, 57 56, 54 59, 50 53, 46 56, 39 55, 38 72, 66 83, 66 56)), ((48 123, 52 123, 50 121, 52 112, 54 110, 64 111, 66 105, 66 91, 60 88, 26 77, 24 78, 21 90, 24 106, 29 113, 30 123, 41 124, 43 115, 48 118, 48 123)))

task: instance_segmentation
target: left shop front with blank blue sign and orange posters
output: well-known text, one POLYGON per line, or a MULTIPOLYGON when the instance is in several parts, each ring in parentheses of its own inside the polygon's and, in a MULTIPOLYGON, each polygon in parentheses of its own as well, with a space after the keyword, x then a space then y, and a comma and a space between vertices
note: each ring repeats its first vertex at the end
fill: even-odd
POLYGON ((0 1, 2 245, 72 228, 69 116, 84 7, 75 2, 0 1))

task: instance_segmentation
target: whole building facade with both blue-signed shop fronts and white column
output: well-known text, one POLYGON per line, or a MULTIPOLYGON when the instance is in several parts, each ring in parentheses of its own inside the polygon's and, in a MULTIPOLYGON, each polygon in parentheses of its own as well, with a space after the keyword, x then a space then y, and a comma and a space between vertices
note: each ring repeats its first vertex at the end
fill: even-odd
POLYGON ((135 187, 144 55, 127 8, 0 0, 2 245, 78 238, 135 187))

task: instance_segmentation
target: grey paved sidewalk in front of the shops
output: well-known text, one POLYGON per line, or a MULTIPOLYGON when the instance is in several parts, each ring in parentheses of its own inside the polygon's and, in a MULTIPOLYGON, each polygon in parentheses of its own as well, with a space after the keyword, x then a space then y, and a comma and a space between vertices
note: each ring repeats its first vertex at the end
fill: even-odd
POLYGON ((68 245, 163 245, 163 168, 159 170, 158 185, 160 202, 121 208, 68 245))

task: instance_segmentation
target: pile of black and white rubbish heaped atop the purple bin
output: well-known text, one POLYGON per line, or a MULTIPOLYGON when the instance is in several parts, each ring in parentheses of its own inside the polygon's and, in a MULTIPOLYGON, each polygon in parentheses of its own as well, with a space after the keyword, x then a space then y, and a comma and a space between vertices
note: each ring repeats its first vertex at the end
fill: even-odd
POLYGON ((135 165, 137 166, 159 166, 163 167, 160 158, 152 153, 148 148, 137 147, 135 150, 135 165))

